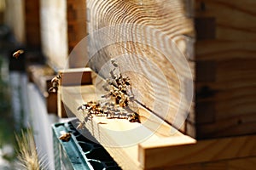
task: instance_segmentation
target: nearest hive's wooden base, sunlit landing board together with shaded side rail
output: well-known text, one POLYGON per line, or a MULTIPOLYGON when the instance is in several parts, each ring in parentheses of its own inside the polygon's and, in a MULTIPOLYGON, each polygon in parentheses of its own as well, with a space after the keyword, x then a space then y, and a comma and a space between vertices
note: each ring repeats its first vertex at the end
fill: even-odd
MULTIPOLYGON (((62 100, 67 109, 80 120, 83 120, 83 113, 77 111, 79 105, 101 96, 95 94, 94 85, 61 87, 61 92, 64 94, 62 100)), ((143 108, 140 108, 138 113, 142 116, 142 123, 106 119, 104 116, 94 116, 91 121, 85 123, 85 127, 123 169, 159 169, 192 163, 196 166, 191 167, 197 167, 197 164, 209 161, 214 163, 256 156, 255 135, 196 141, 178 133, 143 108), (134 129, 136 132, 131 133, 130 130, 134 129), (151 135, 140 139, 146 133, 151 135)), ((218 167, 218 164, 213 165, 218 167)), ((230 165, 238 166, 233 161, 230 161, 230 165)))

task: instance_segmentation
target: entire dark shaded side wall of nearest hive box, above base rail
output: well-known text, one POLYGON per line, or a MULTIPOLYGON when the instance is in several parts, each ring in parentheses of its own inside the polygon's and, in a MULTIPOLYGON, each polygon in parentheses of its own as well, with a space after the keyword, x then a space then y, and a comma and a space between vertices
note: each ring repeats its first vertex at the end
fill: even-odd
POLYGON ((256 133, 256 2, 195 0, 200 139, 256 133))

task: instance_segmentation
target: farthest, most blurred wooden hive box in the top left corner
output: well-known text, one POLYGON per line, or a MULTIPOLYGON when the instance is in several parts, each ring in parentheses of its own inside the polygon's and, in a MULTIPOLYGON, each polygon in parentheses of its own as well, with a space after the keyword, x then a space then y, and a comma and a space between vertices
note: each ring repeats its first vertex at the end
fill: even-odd
POLYGON ((5 24, 14 33, 16 41, 28 48, 40 48, 39 0, 5 2, 5 24))

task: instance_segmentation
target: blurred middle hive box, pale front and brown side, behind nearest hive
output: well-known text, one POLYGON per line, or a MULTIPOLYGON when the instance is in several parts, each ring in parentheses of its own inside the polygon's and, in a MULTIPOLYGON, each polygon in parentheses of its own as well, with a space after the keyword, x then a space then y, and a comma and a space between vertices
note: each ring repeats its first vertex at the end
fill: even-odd
POLYGON ((41 0, 40 4, 42 48, 49 65, 55 71, 84 66, 79 57, 69 59, 69 54, 87 33, 85 1, 41 0))

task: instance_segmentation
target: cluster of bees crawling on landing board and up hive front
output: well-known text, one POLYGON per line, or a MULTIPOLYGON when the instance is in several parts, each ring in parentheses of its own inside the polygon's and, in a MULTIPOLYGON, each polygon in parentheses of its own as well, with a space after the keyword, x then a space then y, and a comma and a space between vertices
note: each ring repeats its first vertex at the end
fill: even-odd
POLYGON ((107 118, 127 119, 129 122, 140 122, 139 115, 131 111, 129 102, 134 100, 131 91, 129 77, 123 77, 121 73, 115 74, 118 68, 116 61, 111 60, 113 70, 102 88, 108 94, 102 95, 100 101, 90 101, 80 105, 78 111, 83 111, 84 121, 79 122, 78 129, 84 127, 84 123, 93 116, 106 116, 107 118))

